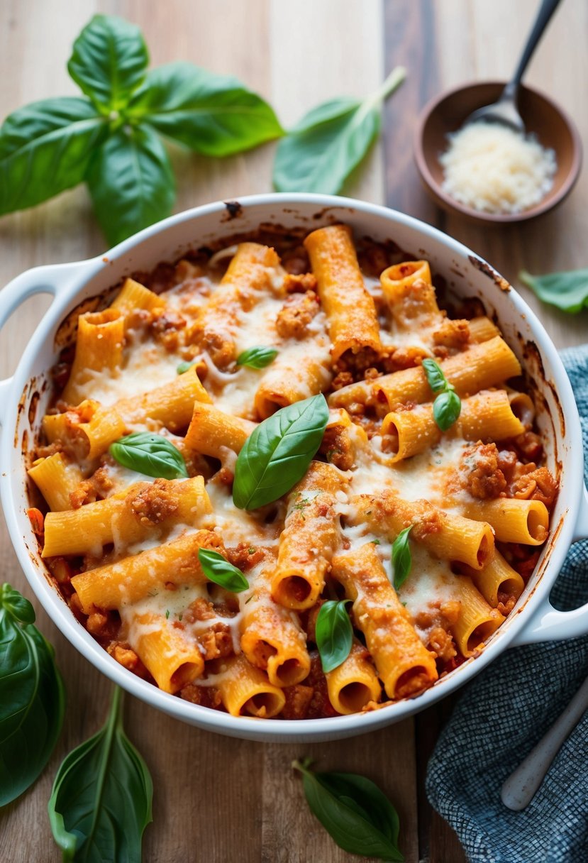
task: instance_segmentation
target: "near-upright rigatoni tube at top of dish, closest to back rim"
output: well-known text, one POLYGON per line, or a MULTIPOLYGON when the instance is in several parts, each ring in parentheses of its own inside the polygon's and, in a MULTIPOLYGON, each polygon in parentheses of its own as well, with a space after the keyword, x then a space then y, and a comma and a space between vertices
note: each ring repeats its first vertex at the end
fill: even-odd
POLYGON ((347 350, 382 349, 378 316, 366 291, 348 225, 334 224, 314 230, 304 240, 316 275, 318 295, 328 318, 333 362, 347 350))

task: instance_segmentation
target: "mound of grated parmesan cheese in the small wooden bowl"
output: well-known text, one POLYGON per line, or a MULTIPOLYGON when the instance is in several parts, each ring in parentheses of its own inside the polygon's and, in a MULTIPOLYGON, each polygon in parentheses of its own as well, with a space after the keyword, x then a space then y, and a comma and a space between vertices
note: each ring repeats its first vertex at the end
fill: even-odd
POLYGON ((472 210, 529 210, 554 184, 554 150, 541 147, 535 135, 521 135, 499 123, 470 123, 448 139, 439 160, 443 190, 472 210))

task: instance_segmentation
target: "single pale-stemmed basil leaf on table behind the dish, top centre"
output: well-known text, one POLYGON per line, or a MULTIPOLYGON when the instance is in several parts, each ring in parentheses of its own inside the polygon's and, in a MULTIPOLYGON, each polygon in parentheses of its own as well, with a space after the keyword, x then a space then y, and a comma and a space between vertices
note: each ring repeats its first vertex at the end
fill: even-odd
POLYGON ((273 166, 278 192, 341 192, 378 137, 382 103, 404 77, 397 67, 363 102, 332 99, 303 117, 278 145, 273 166))

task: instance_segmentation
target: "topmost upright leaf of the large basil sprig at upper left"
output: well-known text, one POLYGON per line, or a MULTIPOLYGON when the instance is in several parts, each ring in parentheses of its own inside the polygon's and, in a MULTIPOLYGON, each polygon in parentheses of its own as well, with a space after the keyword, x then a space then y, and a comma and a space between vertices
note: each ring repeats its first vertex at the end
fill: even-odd
POLYGON ((95 15, 73 43, 67 71, 105 113, 118 111, 145 79, 149 54, 141 29, 123 18, 95 15))

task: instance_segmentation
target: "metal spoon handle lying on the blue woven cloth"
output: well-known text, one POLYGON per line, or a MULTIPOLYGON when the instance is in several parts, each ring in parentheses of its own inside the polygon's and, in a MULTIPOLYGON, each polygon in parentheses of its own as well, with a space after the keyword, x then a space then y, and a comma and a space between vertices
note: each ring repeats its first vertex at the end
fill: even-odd
POLYGON ((541 785, 552 761, 564 740, 588 709, 588 677, 559 719, 541 738, 524 761, 510 774, 503 785, 500 797, 505 806, 519 812, 527 806, 541 785))

